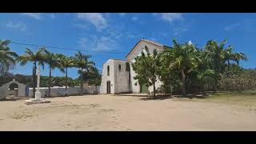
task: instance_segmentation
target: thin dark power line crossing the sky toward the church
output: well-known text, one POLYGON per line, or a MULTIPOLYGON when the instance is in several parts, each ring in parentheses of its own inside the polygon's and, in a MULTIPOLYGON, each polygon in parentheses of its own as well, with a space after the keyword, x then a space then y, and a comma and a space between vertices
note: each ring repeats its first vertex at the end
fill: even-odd
MULTIPOLYGON (((22 43, 22 42, 10 42, 12 44, 16 45, 23 45, 23 46, 36 46, 36 47, 46 47, 50 49, 59 49, 59 50, 74 50, 74 51, 86 51, 86 52, 94 52, 94 53, 105 53, 105 54, 127 54, 124 52, 108 52, 108 51, 96 51, 96 50, 82 50, 78 48, 65 48, 65 47, 58 47, 58 46, 42 46, 42 45, 36 45, 36 44, 30 44, 30 43, 22 43)), ((132 53, 130 53, 132 54, 132 53)))

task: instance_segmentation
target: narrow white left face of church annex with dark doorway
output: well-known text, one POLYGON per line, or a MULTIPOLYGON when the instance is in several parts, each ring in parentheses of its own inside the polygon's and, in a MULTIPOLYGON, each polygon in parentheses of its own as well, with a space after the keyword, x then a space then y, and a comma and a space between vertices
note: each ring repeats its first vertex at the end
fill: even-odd
POLYGON ((110 94, 114 94, 114 60, 109 59, 103 64, 102 68, 102 83, 100 86, 100 93, 106 94, 106 82, 110 81, 110 94), (107 75, 107 66, 110 66, 110 75, 107 75))

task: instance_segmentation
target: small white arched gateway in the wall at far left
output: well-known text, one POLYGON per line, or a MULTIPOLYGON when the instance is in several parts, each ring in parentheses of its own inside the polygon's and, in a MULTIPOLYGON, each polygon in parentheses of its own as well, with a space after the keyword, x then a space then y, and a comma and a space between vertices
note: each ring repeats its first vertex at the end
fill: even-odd
POLYGON ((10 85, 12 84, 16 84, 18 86, 17 88, 18 92, 14 94, 15 97, 24 97, 26 95, 26 85, 24 85, 23 83, 17 82, 15 81, 15 79, 13 79, 12 81, 0 87, 0 98, 6 98, 9 95, 10 85))

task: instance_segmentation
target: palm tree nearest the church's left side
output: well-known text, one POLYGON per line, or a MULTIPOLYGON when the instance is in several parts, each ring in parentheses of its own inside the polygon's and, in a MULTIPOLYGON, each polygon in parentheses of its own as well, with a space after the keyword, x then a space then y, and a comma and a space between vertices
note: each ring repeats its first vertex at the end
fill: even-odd
POLYGON ((82 73, 83 70, 89 70, 90 66, 94 66, 94 62, 90 62, 88 59, 90 58, 90 55, 82 54, 80 51, 75 54, 74 58, 74 64, 76 67, 78 67, 80 70, 78 70, 78 74, 80 74, 80 88, 81 88, 81 94, 83 93, 83 78, 82 73))

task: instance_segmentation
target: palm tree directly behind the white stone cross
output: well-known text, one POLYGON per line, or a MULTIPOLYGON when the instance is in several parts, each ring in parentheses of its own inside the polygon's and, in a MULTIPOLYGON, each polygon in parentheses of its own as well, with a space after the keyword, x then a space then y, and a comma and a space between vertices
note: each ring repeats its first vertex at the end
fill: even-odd
POLYGON ((44 66, 45 56, 42 54, 44 48, 40 48, 36 52, 33 52, 29 48, 26 48, 24 54, 17 58, 20 65, 24 66, 27 62, 33 62, 33 72, 32 72, 32 86, 33 86, 33 98, 35 96, 35 85, 36 85, 36 70, 37 70, 37 62, 39 65, 44 66))

